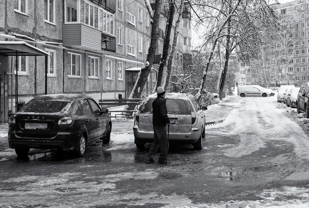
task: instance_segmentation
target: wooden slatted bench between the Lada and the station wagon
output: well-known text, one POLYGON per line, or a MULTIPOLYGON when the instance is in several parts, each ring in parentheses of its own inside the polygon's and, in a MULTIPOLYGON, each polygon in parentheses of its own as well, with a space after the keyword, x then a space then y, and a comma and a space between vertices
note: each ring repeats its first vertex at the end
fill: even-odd
POLYGON ((134 105, 134 110, 112 110, 112 111, 108 111, 109 116, 115 117, 115 119, 121 118, 121 117, 125 117, 125 118, 134 118, 136 111, 138 110, 138 105, 141 103, 140 99, 106 99, 106 100, 99 100, 99 105, 113 105, 113 106, 117 106, 117 105, 134 105), (113 116, 112 113, 115 113, 115 115, 113 116))

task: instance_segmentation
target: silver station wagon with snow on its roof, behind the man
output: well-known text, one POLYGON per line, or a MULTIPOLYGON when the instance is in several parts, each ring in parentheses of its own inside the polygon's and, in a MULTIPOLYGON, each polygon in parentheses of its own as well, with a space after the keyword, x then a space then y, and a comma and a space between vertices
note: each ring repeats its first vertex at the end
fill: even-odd
MULTIPOLYGON (((154 141, 152 126, 152 102, 157 97, 153 93, 140 105, 134 121, 134 143, 144 148, 147 142, 154 141)), ((190 93, 166 93, 167 115, 170 118, 169 142, 192 144, 194 150, 202 149, 202 137, 205 137, 205 113, 207 107, 200 106, 190 93)))

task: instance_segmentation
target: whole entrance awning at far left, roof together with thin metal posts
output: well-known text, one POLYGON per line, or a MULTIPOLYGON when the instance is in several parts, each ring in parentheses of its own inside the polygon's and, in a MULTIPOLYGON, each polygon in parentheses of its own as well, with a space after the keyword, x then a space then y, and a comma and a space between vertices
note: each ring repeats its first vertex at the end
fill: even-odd
POLYGON ((50 54, 24 41, 0 41, 0 56, 16 56, 16 104, 18 106, 18 56, 45 56, 45 95, 47 94, 47 58, 50 54))

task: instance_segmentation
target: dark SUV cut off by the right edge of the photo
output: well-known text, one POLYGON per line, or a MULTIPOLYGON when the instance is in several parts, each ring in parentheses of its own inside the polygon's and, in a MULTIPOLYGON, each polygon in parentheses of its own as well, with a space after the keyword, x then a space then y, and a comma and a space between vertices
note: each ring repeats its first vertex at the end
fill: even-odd
POLYGON ((304 112, 306 118, 309 118, 309 83, 305 83, 300 87, 296 99, 297 113, 304 112))

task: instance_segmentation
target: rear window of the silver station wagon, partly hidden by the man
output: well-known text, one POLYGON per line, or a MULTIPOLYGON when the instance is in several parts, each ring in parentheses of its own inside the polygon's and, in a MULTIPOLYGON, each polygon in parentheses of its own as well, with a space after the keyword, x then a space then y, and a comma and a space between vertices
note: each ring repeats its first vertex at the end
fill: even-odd
MULTIPOLYGON (((152 113, 152 102, 155 99, 149 99, 145 104, 140 108, 141 113, 152 113)), ((191 114, 188 108, 187 100, 180 99, 167 99, 166 100, 167 113, 169 114, 191 114)))

